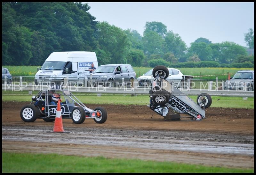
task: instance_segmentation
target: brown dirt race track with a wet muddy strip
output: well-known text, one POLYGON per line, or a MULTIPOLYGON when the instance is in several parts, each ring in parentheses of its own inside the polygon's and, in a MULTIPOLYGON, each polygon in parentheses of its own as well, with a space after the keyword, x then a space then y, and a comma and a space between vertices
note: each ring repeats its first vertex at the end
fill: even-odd
POLYGON ((104 124, 63 119, 67 134, 47 132, 53 122, 23 122, 25 104, 3 102, 2 150, 254 168, 254 109, 210 107, 202 121, 164 121, 147 106, 102 105, 108 112, 104 124))

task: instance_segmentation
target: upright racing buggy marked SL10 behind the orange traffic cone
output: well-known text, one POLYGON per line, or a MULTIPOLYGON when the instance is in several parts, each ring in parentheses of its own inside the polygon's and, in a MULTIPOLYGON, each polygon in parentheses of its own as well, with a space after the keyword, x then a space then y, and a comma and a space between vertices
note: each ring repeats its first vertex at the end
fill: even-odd
MULTIPOLYGON (((86 107, 70 91, 62 90, 61 85, 50 85, 45 91, 39 91, 32 96, 29 105, 20 110, 20 117, 25 122, 34 122, 37 118, 46 122, 55 120, 57 105, 51 105, 51 96, 56 91, 62 94, 65 101, 60 104, 61 117, 72 119, 74 123, 83 123, 86 118, 92 118, 96 123, 104 123, 107 120, 107 111, 103 107, 96 107, 94 110, 86 107)), ((62 98, 63 99, 63 98, 62 98)))

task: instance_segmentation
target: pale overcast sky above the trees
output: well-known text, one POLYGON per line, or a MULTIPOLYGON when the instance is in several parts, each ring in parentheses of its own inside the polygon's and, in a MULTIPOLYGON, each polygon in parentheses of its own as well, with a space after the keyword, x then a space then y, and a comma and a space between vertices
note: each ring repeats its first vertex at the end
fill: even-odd
POLYGON ((141 36, 147 21, 161 22, 167 31, 179 34, 188 47, 200 37, 212 43, 232 41, 246 47, 244 33, 249 28, 254 31, 253 2, 88 2, 88 5, 96 21, 137 30, 141 36))

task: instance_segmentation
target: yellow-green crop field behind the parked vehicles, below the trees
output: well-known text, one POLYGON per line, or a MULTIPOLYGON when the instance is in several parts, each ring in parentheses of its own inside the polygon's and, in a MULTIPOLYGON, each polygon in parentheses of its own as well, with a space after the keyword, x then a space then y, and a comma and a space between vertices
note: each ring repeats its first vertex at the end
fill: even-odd
MULTIPOLYGON (((2 66, 7 68, 12 76, 35 76, 37 72, 37 67, 41 66, 2 66)), ((136 77, 142 76, 148 70, 153 68, 147 67, 133 67, 134 71, 136 72, 136 77)), ((227 75, 220 75, 220 74, 227 74, 230 73, 231 77, 239 70, 242 69, 249 69, 252 68, 177 68, 179 69, 184 75, 192 75, 192 76, 205 76, 205 75, 219 75, 219 76, 207 76, 207 77, 194 77, 195 79, 227 79, 227 75)))

